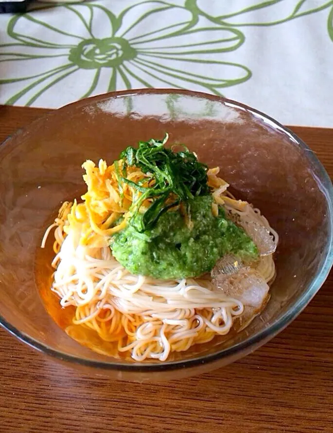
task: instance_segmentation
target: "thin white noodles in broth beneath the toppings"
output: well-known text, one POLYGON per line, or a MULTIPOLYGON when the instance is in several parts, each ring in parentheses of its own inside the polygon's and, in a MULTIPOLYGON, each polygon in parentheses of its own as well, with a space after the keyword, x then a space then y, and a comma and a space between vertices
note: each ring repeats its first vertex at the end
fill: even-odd
MULTIPOLYGON (((225 185, 213 193, 217 205, 245 231, 260 227, 259 234, 264 234, 263 229, 268 233, 269 239, 263 239, 264 254, 253 265, 268 283, 275 275, 272 253, 278 235, 258 209, 234 200, 225 185)), ((235 318, 243 313, 242 302, 226 296, 209 278, 166 281, 131 274, 105 244, 80 242, 84 223, 64 232, 71 208, 71 203, 64 203, 42 246, 56 227, 52 290, 62 307, 75 307, 74 325, 93 329, 102 340, 114 342, 119 352, 129 352, 135 361, 165 361, 173 351, 185 351, 216 335, 228 334, 235 318)))

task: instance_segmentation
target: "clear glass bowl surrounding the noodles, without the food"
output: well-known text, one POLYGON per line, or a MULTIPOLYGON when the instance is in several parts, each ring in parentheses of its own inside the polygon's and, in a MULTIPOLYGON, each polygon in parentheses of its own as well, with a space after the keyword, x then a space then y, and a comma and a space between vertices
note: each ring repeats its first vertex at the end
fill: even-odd
POLYGON ((179 379, 221 367, 280 332, 319 290, 333 261, 332 196, 314 153, 277 121, 243 104, 142 89, 67 105, 0 146, 0 323, 43 353, 112 379, 179 379), (168 362, 120 361, 76 343, 46 311, 37 283, 44 278, 49 290, 51 255, 39 245, 61 202, 83 192, 83 161, 110 162, 126 146, 165 132, 170 142, 220 166, 232 192, 262 210, 280 235, 277 277, 265 310, 238 334, 168 362))

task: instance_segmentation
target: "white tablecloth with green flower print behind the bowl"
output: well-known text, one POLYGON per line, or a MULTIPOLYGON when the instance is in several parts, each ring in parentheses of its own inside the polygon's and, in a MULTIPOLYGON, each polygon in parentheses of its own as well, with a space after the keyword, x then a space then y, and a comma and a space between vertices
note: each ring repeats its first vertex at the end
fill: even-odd
POLYGON ((140 87, 332 127, 333 1, 99 0, 0 16, 0 104, 56 108, 140 87))

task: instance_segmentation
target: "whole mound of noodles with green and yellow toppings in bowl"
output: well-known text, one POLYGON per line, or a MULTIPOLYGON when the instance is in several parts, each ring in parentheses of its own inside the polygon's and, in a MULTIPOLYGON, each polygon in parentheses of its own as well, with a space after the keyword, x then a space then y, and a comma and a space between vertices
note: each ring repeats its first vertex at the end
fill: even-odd
POLYGON ((65 202, 42 241, 56 227, 51 290, 75 308, 66 332, 99 353, 165 361, 246 326, 269 299, 278 234, 167 139, 86 161, 83 202, 65 202))

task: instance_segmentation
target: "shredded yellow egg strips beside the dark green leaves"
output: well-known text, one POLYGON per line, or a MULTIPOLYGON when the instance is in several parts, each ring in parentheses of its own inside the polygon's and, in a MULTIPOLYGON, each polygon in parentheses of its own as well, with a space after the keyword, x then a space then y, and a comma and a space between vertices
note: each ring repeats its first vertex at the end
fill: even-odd
MULTIPOLYGON (((122 159, 118 161, 117 169, 115 164, 108 166, 103 159, 99 161, 97 167, 93 161, 87 160, 82 164, 82 168, 86 171, 83 179, 88 187, 87 192, 81 197, 83 203, 77 204, 75 200, 72 204, 64 225, 64 232, 68 233, 73 226, 80 228, 81 245, 101 247, 108 243, 111 235, 126 227, 127 220, 131 216, 130 208, 142 194, 126 182, 120 182, 119 173, 132 182, 141 182, 145 187, 151 186, 152 179, 140 168, 126 166, 124 169, 122 159)), ((215 167, 207 172, 208 185, 213 190, 214 202, 217 205, 236 202, 238 207, 242 208, 240 200, 236 201, 223 195, 229 185, 217 177, 219 170, 219 167, 215 167)), ((170 200, 172 199, 173 197, 170 197, 170 200)), ((213 215, 218 212, 215 203, 212 205, 213 215)), ((150 205, 151 200, 145 200, 141 205, 142 210, 144 211, 150 205)))

